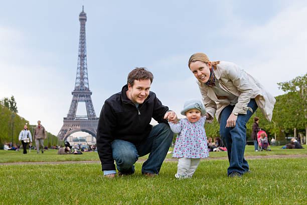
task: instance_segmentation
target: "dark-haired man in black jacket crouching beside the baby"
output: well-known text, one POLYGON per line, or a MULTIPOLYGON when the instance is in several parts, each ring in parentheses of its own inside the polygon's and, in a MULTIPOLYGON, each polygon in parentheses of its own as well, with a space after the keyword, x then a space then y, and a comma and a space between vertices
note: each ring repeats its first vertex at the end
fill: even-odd
POLYGON ((168 121, 177 123, 177 116, 163 106, 154 92, 149 91, 154 76, 145 68, 135 68, 128 75, 121 92, 105 100, 97 130, 97 149, 105 177, 134 173, 133 164, 148 153, 142 174, 159 174, 172 143, 173 132, 168 121), (151 118, 158 121, 152 127, 151 118))

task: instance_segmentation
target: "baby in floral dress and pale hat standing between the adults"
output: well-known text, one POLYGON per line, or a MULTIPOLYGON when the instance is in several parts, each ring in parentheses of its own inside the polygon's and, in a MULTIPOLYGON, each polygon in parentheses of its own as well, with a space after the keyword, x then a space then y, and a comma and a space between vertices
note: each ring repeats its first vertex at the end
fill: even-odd
MULTIPOLYGON (((181 119, 177 124, 169 122, 171 130, 178 133, 173 157, 179 158, 176 178, 191 178, 201 158, 209 157, 205 132, 206 109, 200 100, 185 102, 181 119)), ((169 121, 172 116, 169 116, 169 121)))

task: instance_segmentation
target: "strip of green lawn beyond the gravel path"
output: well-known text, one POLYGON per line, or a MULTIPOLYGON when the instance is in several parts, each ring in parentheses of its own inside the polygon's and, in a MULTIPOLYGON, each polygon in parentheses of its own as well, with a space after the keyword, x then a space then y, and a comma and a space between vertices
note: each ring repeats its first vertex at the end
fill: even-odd
MULTIPOLYGON (((281 146, 271 146, 272 151, 255 152, 254 146, 246 146, 245 156, 253 155, 289 155, 289 154, 307 154, 307 145, 303 145, 305 149, 280 149, 281 146)), ((173 148, 170 148, 172 151, 173 148)), ((210 157, 227 157, 227 152, 210 152, 210 157)), ((146 159, 148 156, 140 157, 146 159)), ((172 158, 172 154, 168 154, 166 158, 172 158)), ((44 154, 36 154, 35 150, 31 153, 23 154, 23 150, 5 151, 0 150, 0 163, 4 162, 42 162, 42 161, 90 161, 99 160, 97 152, 84 152, 83 155, 58 155, 57 150, 46 150, 44 154)))

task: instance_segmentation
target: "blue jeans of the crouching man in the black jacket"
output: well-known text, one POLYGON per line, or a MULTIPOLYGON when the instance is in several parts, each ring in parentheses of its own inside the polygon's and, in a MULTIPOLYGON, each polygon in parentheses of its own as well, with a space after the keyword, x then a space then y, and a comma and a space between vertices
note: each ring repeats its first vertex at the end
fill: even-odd
POLYGON ((112 154, 116 168, 122 174, 133 174, 138 157, 149 153, 142 165, 142 172, 159 174, 162 163, 169 151, 174 133, 169 125, 161 123, 152 128, 148 137, 138 145, 123 140, 112 142, 112 154))

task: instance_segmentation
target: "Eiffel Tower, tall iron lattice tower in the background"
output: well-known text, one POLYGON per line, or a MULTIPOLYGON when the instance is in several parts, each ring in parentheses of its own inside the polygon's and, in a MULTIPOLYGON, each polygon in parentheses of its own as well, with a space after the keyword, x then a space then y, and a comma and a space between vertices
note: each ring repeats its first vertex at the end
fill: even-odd
POLYGON ((75 89, 72 91, 72 101, 67 114, 64 118, 64 125, 62 126, 58 138, 59 140, 66 140, 68 136, 75 132, 87 132, 93 137, 96 137, 98 119, 94 111, 91 94, 87 78, 87 60, 86 60, 86 39, 85 39, 85 22, 86 13, 82 7, 82 12, 79 15, 80 21, 80 39, 79 39, 79 54, 75 89), (85 102, 87 111, 86 116, 77 116, 77 108, 79 102, 85 102))

